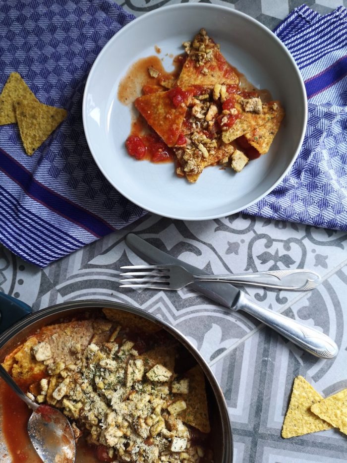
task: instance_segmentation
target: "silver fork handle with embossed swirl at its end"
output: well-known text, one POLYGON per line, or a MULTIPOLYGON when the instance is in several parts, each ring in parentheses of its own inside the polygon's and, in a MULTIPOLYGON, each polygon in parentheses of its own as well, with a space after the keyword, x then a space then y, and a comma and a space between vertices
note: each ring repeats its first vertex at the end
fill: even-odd
POLYGON ((311 270, 269 270, 267 272, 241 273, 232 275, 194 275, 198 281, 218 281, 221 283, 247 284, 273 289, 306 291, 315 288, 320 276, 311 270))

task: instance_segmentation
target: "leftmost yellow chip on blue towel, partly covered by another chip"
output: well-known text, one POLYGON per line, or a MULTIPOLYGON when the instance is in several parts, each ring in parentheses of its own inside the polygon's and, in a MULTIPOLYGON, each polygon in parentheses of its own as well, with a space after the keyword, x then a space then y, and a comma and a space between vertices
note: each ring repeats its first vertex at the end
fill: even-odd
POLYGON ((0 95, 0 125, 13 124, 17 122, 14 109, 16 101, 32 101, 39 103, 33 92, 24 82, 18 72, 12 72, 0 95))

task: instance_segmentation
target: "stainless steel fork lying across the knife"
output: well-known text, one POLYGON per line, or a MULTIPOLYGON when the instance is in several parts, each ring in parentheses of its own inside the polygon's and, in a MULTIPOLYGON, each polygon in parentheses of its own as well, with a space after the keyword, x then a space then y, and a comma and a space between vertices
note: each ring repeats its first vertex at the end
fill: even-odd
POLYGON ((120 267, 128 272, 119 280, 120 288, 181 289, 197 281, 232 283, 271 289, 306 291, 315 288, 320 276, 305 269, 269 270, 267 272, 231 275, 194 275, 180 265, 133 265, 120 267))

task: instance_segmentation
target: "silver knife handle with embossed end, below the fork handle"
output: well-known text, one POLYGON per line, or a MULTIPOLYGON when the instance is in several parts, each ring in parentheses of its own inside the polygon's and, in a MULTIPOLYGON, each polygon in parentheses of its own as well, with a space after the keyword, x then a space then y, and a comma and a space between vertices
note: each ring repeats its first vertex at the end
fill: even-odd
POLYGON ((240 293, 237 303, 232 308, 244 310, 316 357, 333 358, 338 353, 339 349, 336 343, 329 336, 311 327, 301 325, 278 312, 264 309, 248 299, 243 293, 240 293))

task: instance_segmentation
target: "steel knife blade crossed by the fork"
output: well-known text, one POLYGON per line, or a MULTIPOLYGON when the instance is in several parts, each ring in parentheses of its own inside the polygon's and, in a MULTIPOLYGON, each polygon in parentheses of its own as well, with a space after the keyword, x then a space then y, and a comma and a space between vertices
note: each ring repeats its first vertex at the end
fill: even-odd
MULTIPOLYGON (((149 264, 177 264, 189 272, 209 275, 205 270, 201 270, 182 260, 176 259, 164 251, 160 251, 134 233, 128 233, 125 236, 125 243, 135 254, 149 264)), ((192 283, 190 287, 228 308, 234 305, 240 294, 240 290, 229 283, 197 282, 192 283)))

